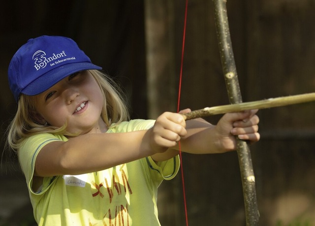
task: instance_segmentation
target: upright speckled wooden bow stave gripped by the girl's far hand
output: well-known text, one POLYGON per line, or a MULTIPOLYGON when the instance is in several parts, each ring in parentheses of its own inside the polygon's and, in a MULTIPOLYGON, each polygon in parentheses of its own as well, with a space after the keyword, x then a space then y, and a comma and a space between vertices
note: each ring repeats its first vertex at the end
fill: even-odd
MULTIPOLYGON (((242 95, 238 82, 228 27, 226 0, 213 0, 213 2, 215 5, 215 21, 225 85, 230 103, 238 104, 242 102, 242 95)), ((247 226, 256 226, 258 225, 259 213, 251 151, 246 141, 241 141, 238 138, 236 150, 242 177, 246 224, 247 226)))

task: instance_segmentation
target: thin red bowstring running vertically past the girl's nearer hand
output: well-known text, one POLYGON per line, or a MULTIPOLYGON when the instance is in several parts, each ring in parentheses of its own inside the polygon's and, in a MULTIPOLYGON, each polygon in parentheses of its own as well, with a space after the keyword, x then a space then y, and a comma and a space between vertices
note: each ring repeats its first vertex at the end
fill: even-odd
MULTIPOLYGON (((180 71, 180 76, 179 76, 177 112, 179 112, 179 109, 180 109, 180 99, 181 99, 181 89, 182 89, 183 62, 184 62, 184 49, 185 49, 185 36, 186 36, 186 22, 187 22, 187 8, 188 8, 188 0, 186 0, 186 6, 185 6, 184 32, 183 32, 183 46, 182 46, 182 58, 181 58, 181 71, 180 71)), ((181 142, 179 142, 179 157, 180 157, 180 161, 181 161, 181 164, 182 164, 181 173, 182 173, 182 184, 183 184, 183 197, 184 197, 186 226, 188 226, 188 215, 187 215, 187 203, 186 203, 186 192, 185 192, 185 182, 184 182, 184 170, 183 170, 183 160, 182 160, 181 142)))

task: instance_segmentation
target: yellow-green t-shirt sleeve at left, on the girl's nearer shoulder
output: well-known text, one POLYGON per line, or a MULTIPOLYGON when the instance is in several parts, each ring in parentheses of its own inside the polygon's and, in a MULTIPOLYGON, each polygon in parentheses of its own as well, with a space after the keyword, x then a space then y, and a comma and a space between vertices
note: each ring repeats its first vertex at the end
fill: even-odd
POLYGON ((34 175, 34 164, 36 157, 43 146, 45 146, 47 143, 53 142, 53 141, 61 141, 56 136, 52 134, 40 134, 40 135, 34 135, 32 137, 27 138, 21 148, 19 149, 18 155, 19 155, 19 161, 21 164, 21 168, 23 173, 25 174, 25 178, 29 187, 29 190, 33 194, 40 193, 42 191, 45 191, 48 189, 52 181, 55 179, 55 177, 45 177, 43 181, 43 185, 40 191, 33 191, 32 190, 32 178, 34 175))

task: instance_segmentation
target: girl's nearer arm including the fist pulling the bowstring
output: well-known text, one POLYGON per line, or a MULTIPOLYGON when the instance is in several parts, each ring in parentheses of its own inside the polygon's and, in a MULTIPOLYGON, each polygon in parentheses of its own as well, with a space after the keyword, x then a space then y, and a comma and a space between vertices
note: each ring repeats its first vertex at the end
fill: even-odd
POLYGON ((86 134, 47 143, 36 157, 34 175, 83 174, 164 152, 187 133, 185 120, 177 118, 165 117, 149 130, 86 134))

